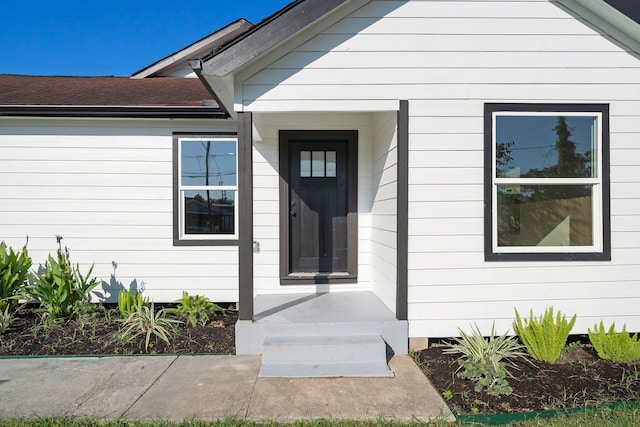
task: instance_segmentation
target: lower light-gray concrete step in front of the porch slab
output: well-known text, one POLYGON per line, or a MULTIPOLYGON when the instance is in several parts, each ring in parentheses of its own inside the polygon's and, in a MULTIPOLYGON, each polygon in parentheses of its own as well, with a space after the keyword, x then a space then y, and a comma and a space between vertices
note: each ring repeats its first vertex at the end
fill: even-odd
POLYGON ((261 377, 392 377, 380 335, 265 337, 261 377))

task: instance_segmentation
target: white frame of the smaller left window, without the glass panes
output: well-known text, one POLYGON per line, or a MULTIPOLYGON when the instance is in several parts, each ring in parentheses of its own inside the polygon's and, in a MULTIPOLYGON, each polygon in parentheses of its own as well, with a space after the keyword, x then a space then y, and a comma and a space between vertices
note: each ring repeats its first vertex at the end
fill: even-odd
POLYGON ((238 226, 239 226, 239 215, 240 206, 238 200, 238 138, 232 136, 179 136, 177 138, 177 198, 179 203, 179 213, 178 213, 178 238, 179 240, 195 240, 195 241, 236 241, 238 240, 238 226), (235 170, 236 170, 236 185, 182 185, 182 142, 184 141, 234 141, 236 147, 236 159, 235 159, 235 170), (184 193, 186 191, 198 191, 198 190, 210 190, 210 191, 227 191, 232 192, 234 194, 234 228, 233 234, 216 234, 216 233, 203 233, 203 234, 187 234, 185 232, 186 224, 186 203, 184 193))

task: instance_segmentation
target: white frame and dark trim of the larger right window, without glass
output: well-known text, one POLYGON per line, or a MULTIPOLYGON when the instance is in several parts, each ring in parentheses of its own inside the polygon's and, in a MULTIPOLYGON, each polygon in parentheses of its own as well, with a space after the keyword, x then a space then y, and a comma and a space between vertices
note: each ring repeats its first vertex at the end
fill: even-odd
POLYGON ((517 260, 610 260, 609 219, 609 106, 606 104, 485 104, 485 259, 517 260), (591 178, 497 177, 497 117, 564 116, 595 117, 591 178), (490 134, 488 134, 490 132, 490 134), (605 150, 607 152, 605 153, 605 150), (498 246, 498 186, 501 185, 591 185, 592 244, 589 246, 498 246), (487 188, 487 185, 490 188, 487 188))

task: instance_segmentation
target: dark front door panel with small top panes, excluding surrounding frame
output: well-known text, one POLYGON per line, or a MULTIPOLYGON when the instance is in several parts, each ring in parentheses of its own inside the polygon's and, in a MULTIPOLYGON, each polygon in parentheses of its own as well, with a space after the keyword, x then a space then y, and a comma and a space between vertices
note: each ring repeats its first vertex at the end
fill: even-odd
POLYGON ((347 142, 295 141, 289 149, 291 272, 346 273, 347 142))

